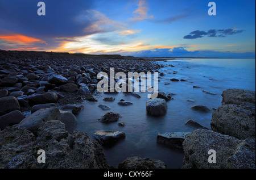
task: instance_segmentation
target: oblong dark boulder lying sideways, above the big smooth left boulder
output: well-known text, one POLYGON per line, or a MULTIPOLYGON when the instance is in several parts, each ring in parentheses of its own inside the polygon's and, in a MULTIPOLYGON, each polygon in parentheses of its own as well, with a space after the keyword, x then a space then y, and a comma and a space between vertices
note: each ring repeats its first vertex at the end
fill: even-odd
POLYGON ((31 104, 46 104, 57 102, 58 96, 56 93, 47 92, 43 94, 34 94, 28 97, 31 104))

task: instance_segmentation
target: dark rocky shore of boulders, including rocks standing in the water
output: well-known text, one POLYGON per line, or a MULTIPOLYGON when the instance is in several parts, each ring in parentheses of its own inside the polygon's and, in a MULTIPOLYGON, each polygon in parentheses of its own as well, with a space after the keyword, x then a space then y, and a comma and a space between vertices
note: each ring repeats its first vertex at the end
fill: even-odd
MULTIPOLYGON (((153 60, 119 56, 0 51, 0 58, 0 168, 114 168, 108 164, 102 145, 125 138, 125 132, 98 131, 92 140, 86 132, 73 131, 75 115, 86 108, 77 104, 97 101, 94 93, 99 72, 109 74, 109 68, 114 67, 126 74, 146 73, 162 67, 153 60), (39 149, 48 152, 45 164, 37 161, 39 149)), ((184 152, 182 168, 255 168, 255 91, 228 89, 222 97, 222 105, 212 114, 210 129, 188 120, 186 125, 195 131, 158 133, 158 143, 184 152), (209 150, 216 152, 216 163, 209 163, 209 150)), ((157 98, 145 102, 147 114, 166 114, 166 102, 171 99, 171 94, 159 92, 157 98)), ((129 106, 130 102, 118 104, 129 106)), ((99 107, 108 109, 102 104, 99 107)), ((210 111, 201 105, 191 108, 210 111)), ((99 120, 113 123, 119 117, 108 112, 99 120)), ((159 160, 127 157, 115 168, 162 169, 166 165, 159 160)))

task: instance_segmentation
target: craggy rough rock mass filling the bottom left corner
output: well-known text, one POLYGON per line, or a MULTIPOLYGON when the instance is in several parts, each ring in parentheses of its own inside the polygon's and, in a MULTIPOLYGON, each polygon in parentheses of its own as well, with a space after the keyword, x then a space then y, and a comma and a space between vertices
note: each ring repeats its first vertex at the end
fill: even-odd
POLYGON ((24 128, 7 127, 0 132, 0 168, 110 168, 102 147, 86 132, 65 131, 59 120, 44 122, 38 137, 24 128), (39 164, 38 150, 46 152, 46 163, 39 164))

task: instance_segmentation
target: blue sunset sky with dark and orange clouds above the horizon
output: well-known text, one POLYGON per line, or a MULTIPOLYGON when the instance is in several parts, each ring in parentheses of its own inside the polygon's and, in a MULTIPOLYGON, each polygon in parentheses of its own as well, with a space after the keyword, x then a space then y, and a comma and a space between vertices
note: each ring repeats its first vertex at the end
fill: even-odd
POLYGON ((255 57, 255 1, 0 0, 0 49, 136 57, 255 57))

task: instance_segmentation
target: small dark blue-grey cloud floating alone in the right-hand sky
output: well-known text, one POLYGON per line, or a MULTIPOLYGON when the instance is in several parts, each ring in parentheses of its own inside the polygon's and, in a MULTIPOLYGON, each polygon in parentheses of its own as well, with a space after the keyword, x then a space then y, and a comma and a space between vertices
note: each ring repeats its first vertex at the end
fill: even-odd
POLYGON ((208 37, 226 37, 228 35, 234 35, 234 34, 239 34, 242 33, 244 30, 234 30, 232 28, 229 29, 223 29, 223 30, 208 30, 208 31, 200 31, 200 30, 196 30, 193 31, 191 33, 189 33, 189 35, 186 35, 183 37, 183 39, 197 39, 197 38, 201 38, 204 36, 208 36, 208 37))

